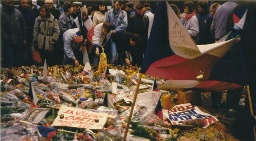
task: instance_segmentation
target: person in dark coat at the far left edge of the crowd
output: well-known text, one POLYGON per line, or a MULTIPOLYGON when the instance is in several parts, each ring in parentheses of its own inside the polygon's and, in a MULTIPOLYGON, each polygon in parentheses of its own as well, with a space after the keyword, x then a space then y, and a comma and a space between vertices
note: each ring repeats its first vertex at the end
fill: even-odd
POLYGON ((27 28, 22 13, 13 1, 2 1, 1 7, 1 67, 19 67, 22 64, 22 45, 27 44, 27 28))

